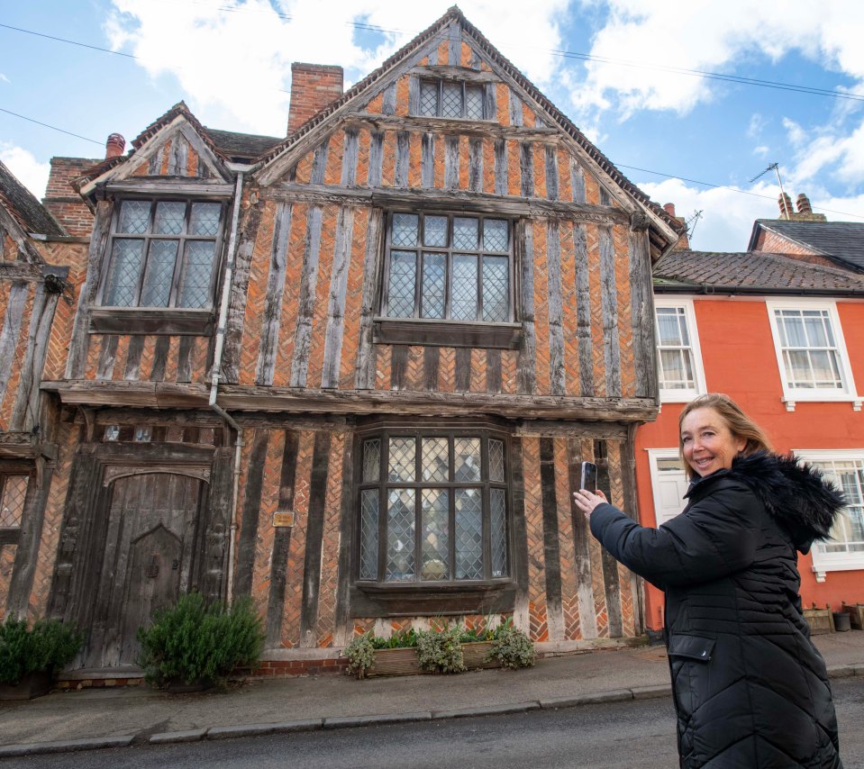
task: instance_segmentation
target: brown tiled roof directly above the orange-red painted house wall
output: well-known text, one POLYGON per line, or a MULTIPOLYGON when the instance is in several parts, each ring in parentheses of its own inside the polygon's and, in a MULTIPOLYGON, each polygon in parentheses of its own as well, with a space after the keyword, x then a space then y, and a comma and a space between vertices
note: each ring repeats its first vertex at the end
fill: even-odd
POLYGON ((814 291, 864 294, 864 276, 762 251, 670 251, 654 266, 654 287, 719 292, 814 291))

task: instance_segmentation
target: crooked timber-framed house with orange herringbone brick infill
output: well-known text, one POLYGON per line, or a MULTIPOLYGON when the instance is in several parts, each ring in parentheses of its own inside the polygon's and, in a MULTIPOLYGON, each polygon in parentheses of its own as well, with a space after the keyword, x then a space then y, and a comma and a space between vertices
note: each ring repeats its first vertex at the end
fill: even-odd
POLYGON ((190 590, 251 595, 287 670, 441 616, 546 649, 640 634, 640 581, 569 495, 594 459, 636 510, 650 265, 682 225, 458 9, 345 93, 292 70, 284 139, 181 103, 125 155, 54 158, 46 208, 93 221, 42 377, 27 611, 112 675, 190 590))

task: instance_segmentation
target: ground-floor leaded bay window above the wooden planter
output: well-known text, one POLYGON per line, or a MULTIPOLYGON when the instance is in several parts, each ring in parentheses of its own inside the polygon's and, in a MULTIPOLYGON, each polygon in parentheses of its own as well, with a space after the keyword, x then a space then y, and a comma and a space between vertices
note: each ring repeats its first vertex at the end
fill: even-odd
POLYGON ((503 438, 385 432, 362 440, 359 579, 494 580, 510 574, 503 438))

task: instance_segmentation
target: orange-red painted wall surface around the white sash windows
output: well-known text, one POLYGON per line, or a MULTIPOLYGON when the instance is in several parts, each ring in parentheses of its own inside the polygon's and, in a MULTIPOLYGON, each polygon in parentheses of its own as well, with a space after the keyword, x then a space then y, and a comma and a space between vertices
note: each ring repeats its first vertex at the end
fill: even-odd
MULTIPOLYGON (((864 392, 864 303, 837 303, 852 377, 864 392)), ((864 450, 864 412, 851 403, 796 403, 787 412, 769 314, 763 300, 732 297, 694 300, 696 328, 702 348, 705 385, 709 392, 728 394, 766 430, 778 451, 813 448, 864 450)), ((657 421, 636 434, 636 481, 641 522, 655 526, 648 448, 678 447, 678 416, 683 403, 663 403, 657 421)), ((805 607, 841 602, 864 603, 864 571, 828 572, 817 583, 811 556, 799 556, 801 596, 805 607)), ((663 593, 646 589, 646 623, 662 628, 663 593)))

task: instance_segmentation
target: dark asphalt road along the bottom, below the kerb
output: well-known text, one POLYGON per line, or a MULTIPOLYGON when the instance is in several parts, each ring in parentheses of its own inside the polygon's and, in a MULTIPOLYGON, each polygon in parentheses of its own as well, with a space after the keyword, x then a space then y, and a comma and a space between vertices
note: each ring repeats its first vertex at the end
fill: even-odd
MULTIPOLYGON (((833 683, 846 769, 864 769, 864 678, 833 683)), ((527 766, 675 769, 672 702, 668 698, 584 705, 565 710, 350 728, 294 735, 132 746, 63 755, 36 755, 4 766, 28 769, 111 767, 297 767, 297 769, 522 769, 527 766)))

